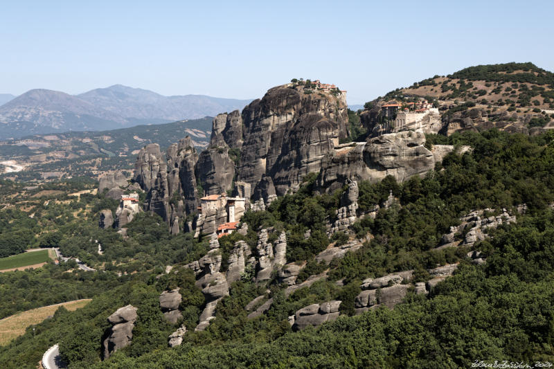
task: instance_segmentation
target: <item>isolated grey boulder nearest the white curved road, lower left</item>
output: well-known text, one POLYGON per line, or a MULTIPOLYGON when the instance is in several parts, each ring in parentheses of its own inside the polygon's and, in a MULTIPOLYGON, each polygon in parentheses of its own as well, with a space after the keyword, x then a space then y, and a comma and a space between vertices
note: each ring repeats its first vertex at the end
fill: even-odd
POLYGON ((112 325, 103 342, 104 359, 108 359, 113 352, 131 344, 134 322, 136 321, 136 307, 127 305, 120 307, 107 318, 112 325))

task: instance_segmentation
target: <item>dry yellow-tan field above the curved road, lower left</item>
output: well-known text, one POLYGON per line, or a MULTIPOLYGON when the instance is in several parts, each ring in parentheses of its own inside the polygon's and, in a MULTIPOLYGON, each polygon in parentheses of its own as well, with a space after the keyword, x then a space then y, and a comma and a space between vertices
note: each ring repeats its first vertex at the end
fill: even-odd
POLYGON ((48 305, 43 307, 37 307, 37 309, 27 310, 26 312, 21 312, 8 318, 3 318, 0 320, 0 345, 6 345, 22 334, 25 333, 26 327, 33 324, 38 324, 48 316, 54 315, 54 312, 58 307, 64 306, 66 309, 73 311, 84 307, 91 300, 75 300, 69 301, 69 303, 62 303, 56 305, 48 305))

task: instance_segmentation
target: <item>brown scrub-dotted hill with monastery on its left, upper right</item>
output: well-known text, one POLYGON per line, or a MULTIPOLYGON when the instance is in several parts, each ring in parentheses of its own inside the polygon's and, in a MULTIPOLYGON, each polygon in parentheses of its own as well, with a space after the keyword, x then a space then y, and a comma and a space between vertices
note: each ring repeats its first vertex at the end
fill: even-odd
POLYGON ((554 73, 531 63, 471 66, 386 93, 359 116, 373 137, 410 129, 539 134, 554 128, 554 73))

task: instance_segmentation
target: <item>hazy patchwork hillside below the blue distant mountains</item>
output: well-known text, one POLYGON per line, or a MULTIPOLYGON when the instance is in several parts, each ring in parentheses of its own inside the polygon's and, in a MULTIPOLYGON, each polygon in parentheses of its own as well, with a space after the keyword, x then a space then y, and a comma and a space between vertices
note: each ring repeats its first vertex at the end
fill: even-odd
MULTIPOLYGON (((44 180, 132 168, 141 147, 168 147, 175 136, 191 136, 199 149, 208 145, 212 118, 181 120, 160 125, 137 125, 100 132, 65 132, 0 141, 0 165, 9 172, 0 178, 44 180)), ((4 169, 2 172, 4 172, 4 169)))

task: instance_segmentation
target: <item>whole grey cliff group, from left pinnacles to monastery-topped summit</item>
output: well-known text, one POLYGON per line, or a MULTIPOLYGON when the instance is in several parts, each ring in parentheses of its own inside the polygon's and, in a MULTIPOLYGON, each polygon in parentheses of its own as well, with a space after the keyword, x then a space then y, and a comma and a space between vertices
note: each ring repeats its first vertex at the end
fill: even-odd
POLYGON ((343 93, 285 84, 242 113, 216 116, 210 145, 200 155, 188 137, 172 145, 165 159, 159 146, 143 147, 134 181, 148 192, 145 210, 175 228, 176 217, 194 213, 197 198, 204 195, 235 188, 244 197, 267 202, 296 190, 305 174, 319 171, 339 138, 348 136, 347 127, 343 93))

